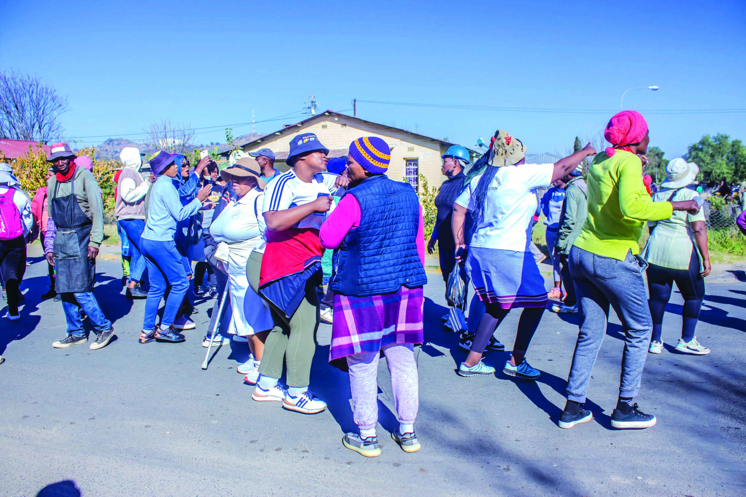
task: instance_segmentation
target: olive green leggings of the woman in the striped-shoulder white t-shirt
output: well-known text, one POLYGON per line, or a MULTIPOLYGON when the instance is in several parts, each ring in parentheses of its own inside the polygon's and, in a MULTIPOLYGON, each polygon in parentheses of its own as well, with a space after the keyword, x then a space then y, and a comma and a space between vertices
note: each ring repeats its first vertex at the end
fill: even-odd
MULTIPOLYGON (((252 252, 246 265, 249 285, 258 290, 262 254, 252 252), (256 276, 254 276, 256 275, 256 276)), ((316 279, 306 282, 306 296, 288 320, 283 311, 269 303, 275 327, 264 343, 264 353, 259 373, 269 378, 282 376, 283 358, 287 364, 287 385, 307 387, 310 383, 311 362, 316 352, 316 329, 319 328, 319 296, 316 294, 316 279)))

